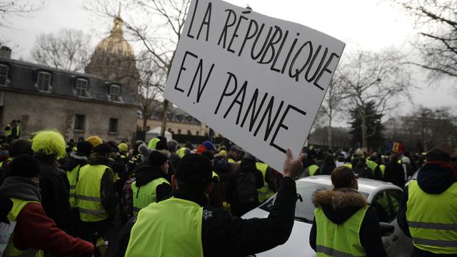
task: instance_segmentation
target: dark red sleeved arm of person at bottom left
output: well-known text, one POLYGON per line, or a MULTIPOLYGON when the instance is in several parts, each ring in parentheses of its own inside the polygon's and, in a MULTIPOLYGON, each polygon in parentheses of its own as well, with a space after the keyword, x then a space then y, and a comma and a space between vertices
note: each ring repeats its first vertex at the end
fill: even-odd
POLYGON ((64 256, 92 256, 94 245, 69 236, 46 217, 39 203, 28 203, 17 216, 14 246, 20 250, 40 249, 64 256))

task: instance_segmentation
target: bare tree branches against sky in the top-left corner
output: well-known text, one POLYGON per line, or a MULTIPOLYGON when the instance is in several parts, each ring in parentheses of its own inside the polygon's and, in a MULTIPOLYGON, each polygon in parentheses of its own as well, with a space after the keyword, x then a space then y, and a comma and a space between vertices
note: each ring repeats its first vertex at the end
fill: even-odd
POLYGON ((36 11, 41 10, 46 1, 41 0, 1 0, 0 1, 0 27, 10 26, 8 18, 11 16, 32 17, 36 11))

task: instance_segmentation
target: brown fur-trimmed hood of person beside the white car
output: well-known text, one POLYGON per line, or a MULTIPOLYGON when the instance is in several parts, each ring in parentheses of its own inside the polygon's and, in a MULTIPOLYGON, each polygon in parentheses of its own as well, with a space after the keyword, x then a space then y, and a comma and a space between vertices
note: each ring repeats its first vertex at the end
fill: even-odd
POLYGON ((313 193, 313 203, 321 207, 326 217, 333 223, 343 223, 351 218, 363 206, 367 206, 366 198, 353 188, 318 190, 313 193))

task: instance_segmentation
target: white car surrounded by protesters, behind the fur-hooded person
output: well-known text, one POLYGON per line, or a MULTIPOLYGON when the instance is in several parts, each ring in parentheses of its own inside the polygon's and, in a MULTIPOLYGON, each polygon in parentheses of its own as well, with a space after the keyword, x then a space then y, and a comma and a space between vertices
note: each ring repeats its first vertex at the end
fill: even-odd
MULTIPOLYGON (((296 203, 296 221, 293 223, 291 236, 283 245, 277 246, 270 251, 257 253, 254 256, 316 256, 316 253, 309 246, 309 233, 313 225, 315 209, 311 198, 317 189, 331 189, 331 178, 330 176, 301 178, 296 181, 296 186, 297 193, 301 195, 303 201, 298 200, 296 203)), ((382 240, 388 256, 412 256, 413 243, 411 238, 403 234, 396 220, 398 206, 403 194, 401 188, 383 181, 359 178, 358 191, 365 196, 368 203, 371 203, 371 206, 378 212, 381 231, 383 231, 382 240), (388 206, 386 206, 386 199, 388 206)), ((275 198, 276 195, 272 196, 258 208, 244 214, 243 218, 265 218, 273 208, 275 198)))

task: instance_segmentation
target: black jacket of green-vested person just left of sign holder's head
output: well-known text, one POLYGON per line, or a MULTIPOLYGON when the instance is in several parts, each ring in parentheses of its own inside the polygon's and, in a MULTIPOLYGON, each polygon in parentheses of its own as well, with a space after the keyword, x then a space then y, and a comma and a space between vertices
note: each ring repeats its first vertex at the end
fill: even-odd
MULTIPOLYGON (((138 192, 141 190, 141 186, 144 186, 157 178, 166 178, 166 175, 161 172, 159 167, 151 167, 149 165, 141 166, 136 173, 135 185, 139 188, 138 192)), ((161 183, 159 186, 156 187, 157 201, 162 201, 164 198, 170 196, 170 193, 171 185, 169 183, 161 183)))

